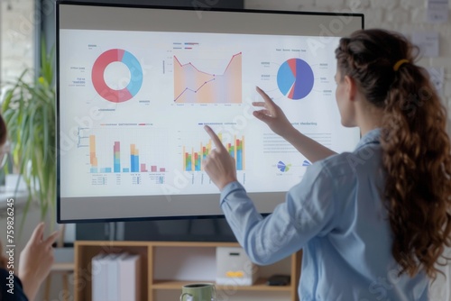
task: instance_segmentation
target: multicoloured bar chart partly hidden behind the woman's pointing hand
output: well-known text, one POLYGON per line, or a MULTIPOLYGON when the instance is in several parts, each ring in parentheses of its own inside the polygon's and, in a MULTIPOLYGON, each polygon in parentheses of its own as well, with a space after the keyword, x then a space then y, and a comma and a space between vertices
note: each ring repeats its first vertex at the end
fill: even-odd
MULTIPOLYGON (((219 140, 223 141, 222 134, 218 133, 217 136, 219 140)), ((191 148, 187 151, 187 148, 183 146, 183 170, 185 171, 201 171, 202 160, 205 160, 212 149, 212 141, 208 141, 206 145, 200 143, 198 150, 191 148)), ((236 139, 234 136, 234 141, 226 143, 226 150, 228 153, 235 158, 236 170, 244 170, 244 136, 241 139, 236 139)))

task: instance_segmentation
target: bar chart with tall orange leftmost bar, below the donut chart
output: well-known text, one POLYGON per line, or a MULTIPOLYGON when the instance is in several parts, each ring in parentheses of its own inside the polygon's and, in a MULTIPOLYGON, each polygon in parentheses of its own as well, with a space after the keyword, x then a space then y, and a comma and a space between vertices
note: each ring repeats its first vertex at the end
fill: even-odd
MULTIPOLYGON (((166 168, 159 167, 157 165, 151 165, 146 164, 143 162, 140 162, 140 150, 137 148, 136 144, 132 143, 129 145, 130 147, 130 166, 126 167, 126 163, 122 163, 121 161, 121 142, 120 141, 114 141, 114 144, 112 145, 112 153, 111 155, 106 155, 105 157, 101 157, 103 162, 109 161, 107 158, 112 158, 112 165, 113 168, 110 166, 105 167, 99 167, 98 166, 98 160, 97 158, 97 141, 96 141, 96 135, 89 135, 89 164, 90 164, 90 173, 136 173, 136 172, 166 172, 166 168), (123 165, 125 165, 123 167, 123 165), (150 169, 148 169, 148 166, 150 169)), ((111 154, 111 152, 110 152, 111 154)), ((124 158, 124 156, 122 157, 124 158)), ((126 160, 125 160, 126 161, 126 160)))

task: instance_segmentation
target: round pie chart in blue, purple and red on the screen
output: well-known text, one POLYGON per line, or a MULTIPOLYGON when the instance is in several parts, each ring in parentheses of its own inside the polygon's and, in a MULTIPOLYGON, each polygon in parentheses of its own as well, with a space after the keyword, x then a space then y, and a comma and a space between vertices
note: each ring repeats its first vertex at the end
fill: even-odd
POLYGON ((313 70, 303 59, 288 59, 277 72, 277 86, 284 96, 298 100, 305 98, 313 88, 313 70))

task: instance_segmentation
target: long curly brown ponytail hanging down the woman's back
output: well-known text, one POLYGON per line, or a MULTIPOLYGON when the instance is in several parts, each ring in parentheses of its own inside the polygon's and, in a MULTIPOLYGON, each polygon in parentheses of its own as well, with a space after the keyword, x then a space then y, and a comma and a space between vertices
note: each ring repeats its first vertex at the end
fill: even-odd
POLYGON ((397 71, 384 106, 384 200, 394 234, 392 254, 401 272, 434 264, 451 245, 451 159, 446 110, 426 71, 404 64, 397 71))

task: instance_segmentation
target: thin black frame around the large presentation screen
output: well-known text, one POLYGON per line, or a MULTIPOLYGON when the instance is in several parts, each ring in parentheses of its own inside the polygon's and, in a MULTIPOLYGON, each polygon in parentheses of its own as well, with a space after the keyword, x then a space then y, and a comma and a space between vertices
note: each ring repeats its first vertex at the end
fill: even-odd
MULTIPOLYGON (((71 1, 57 1, 56 2, 56 78, 60 78, 60 5, 82 5, 82 6, 93 6, 93 7, 113 7, 113 8, 138 8, 138 9, 157 9, 157 10, 174 10, 174 11, 194 11, 196 13, 202 13, 204 10, 198 10, 196 7, 176 7, 176 6, 161 6, 161 5, 124 5, 124 4, 106 4, 106 3, 84 3, 84 2, 71 2, 71 1)), ((222 12, 222 13, 243 13, 243 14, 286 14, 286 15, 310 15, 310 16, 336 16, 336 17, 356 17, 361 18, 361 26, 364 29, 364 14, 355 13, 319 13, 319 12, 290 12, 290 11, 273 11, 273 10, 247 10, 247 9, 230 9, 230 8, 216 8, 208 7, 205 11, 207 12, 222 12)), ((337 35, 335 35, 337 36, 337 35)), ((179 220, 179 219, 199 219, 199 218, 218 218, 224 217, 224 214, 202 214, 202 215, 164 215, 164 216, 143 216, 143 217, 117 217, 117 218, 87 218, 87 219, 67 219, 61 218, 61 196, 60 196, 60 81, 56 81, 57 87, 57 132, 56 132, 56 145, 57 145, 57 222, 58 223, 97 223, 97 222, 122 222, 122 221, 148 221, 148 220, 179 220)), ((268 197, 273 198, 281 197, 281 192, 274 193, 264 193, 268 197)), ((136 197, 136 196, 134 196, 136 197)), ((140 196, 142 199, 149 196, 140 196)), ((179 195, 176 197, 183 197, 179 195)), ((90 197, 94 199, 95 197, 90 197)), ((217 194, 205 194, 202 195, 202 199, 211 199, 213 202, 219 199, 219 193, 217 194)), ((281 200, 283 201, 283 200, 281 200)), ((218 207, 218 201, 216 201, 218 207)), ((271 212, 263 212, 262 215, 271 214, 271 212)))

